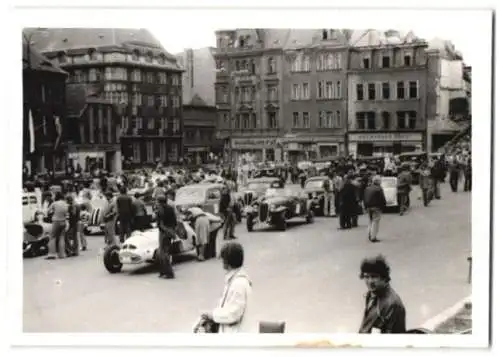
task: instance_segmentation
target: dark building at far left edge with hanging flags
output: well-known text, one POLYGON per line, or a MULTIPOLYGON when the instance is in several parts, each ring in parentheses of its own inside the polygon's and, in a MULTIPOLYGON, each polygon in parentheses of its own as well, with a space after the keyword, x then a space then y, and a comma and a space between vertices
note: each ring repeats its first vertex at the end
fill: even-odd
POLYGON ((65 168, 68 74, 23 35, 23 165, 30 173, 65 168))

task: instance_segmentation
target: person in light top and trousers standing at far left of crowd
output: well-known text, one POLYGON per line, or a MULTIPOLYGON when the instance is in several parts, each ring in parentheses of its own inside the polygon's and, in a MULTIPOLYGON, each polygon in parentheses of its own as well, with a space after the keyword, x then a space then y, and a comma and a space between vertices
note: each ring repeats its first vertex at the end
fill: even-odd
POLYGON ((68 204, 62 192, 55 194, 55 201, 48 207, 48 216, 52 217, 52 231, 49 241, 49 254, 46 259, 65 258, 65 235, 68 230, 68 204))

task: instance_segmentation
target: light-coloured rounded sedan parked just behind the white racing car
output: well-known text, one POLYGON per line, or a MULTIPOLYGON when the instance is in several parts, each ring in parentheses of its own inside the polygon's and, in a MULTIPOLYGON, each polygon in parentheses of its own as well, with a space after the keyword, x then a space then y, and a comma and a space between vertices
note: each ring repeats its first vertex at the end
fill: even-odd
POLYGON ((223 184, 198 183, 179 188, 175 194, 175 207, 179 212, 191 207, 200 207, 203 211, 219 214, 219 203, 223 184))

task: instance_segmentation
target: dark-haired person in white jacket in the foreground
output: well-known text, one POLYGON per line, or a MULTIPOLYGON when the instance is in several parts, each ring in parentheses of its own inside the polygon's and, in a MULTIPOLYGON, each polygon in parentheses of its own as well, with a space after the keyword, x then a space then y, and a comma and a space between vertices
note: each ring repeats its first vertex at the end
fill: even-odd
POLYGON ((222 247, 221 258, 226 271, 222 298, 214 310, 202 314, 201 318, 217 326, 212 332, 252 332, 249 318, 252 282, 243 268, 243 247, 237 242, 228 242, 222 247))

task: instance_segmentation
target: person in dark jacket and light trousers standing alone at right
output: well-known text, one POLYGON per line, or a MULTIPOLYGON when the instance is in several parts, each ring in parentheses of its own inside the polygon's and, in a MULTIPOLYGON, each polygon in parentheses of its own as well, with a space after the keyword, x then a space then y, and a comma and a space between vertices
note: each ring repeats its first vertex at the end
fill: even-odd
POLYGON ((382 218, 382 210, 386 205, 384 190, 380 186, 381 178, 376 175, 371 185, 365 189, 364 206, 368 212, 370 223, 368 224, 368 240, 375 243, 380 242, 377 238, 382 218))

